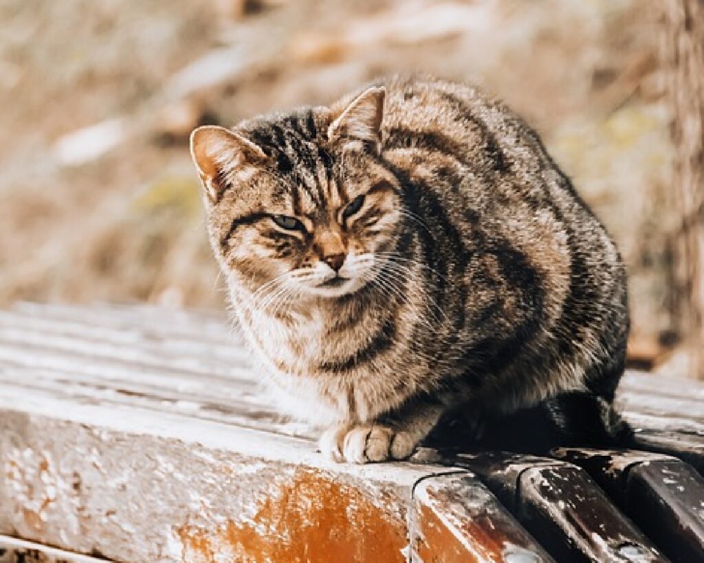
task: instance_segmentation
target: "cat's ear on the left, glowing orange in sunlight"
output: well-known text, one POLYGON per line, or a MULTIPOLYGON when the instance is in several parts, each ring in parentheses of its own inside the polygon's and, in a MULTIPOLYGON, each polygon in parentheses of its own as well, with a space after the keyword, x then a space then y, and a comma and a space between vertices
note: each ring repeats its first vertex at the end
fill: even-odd
POLYGON ((191 157, 211 202, 225 189, 237 169, 257 164, 266 155, 243 136, 215 125, 204 125, 191 133, 191 157))

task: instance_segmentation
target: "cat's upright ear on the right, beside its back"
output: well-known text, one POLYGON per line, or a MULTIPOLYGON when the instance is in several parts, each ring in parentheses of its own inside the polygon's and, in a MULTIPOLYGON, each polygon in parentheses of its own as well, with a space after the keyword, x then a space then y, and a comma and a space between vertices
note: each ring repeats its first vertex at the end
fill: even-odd
POLYGON ((340 138, 372 143, 377 150, 381 145, 382 119, 384 119, 384 86, 372 86, 353 99, 327 129, 330 141, 340 138))

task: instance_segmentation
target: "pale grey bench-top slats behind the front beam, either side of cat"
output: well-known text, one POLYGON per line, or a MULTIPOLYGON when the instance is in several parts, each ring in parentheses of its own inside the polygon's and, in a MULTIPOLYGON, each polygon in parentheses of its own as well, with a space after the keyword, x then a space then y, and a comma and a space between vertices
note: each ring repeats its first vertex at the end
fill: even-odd
MULTIPOLYGON (((20 303, 0 311, 0 374, 54 389, 73 382, 72 392, 85 399, 98 389, 103 401, 132 396, 156 410, 191 409, 210 420, 312 435, 272 412, 241 336, 224 316, 20 303)), ((620 389, 618 401, 636 429, 704 438, 703 384, 627 373, 620 389)))

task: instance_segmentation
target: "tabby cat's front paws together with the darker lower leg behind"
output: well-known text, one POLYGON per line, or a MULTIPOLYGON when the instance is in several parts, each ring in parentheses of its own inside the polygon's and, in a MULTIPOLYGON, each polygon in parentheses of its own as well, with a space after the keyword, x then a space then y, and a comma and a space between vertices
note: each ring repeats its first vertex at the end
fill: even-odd
POLYGON ((337 462, 367 463, 408 458, 445 412, 439 403, 420 403, 371 422, 344 422, 327 429, 320 451, 337 462))

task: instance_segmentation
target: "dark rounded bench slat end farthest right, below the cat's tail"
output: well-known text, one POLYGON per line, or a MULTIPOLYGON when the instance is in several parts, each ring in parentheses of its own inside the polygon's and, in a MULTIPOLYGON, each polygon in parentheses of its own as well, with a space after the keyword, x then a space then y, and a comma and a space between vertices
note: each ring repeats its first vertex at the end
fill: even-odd
POLYGON ((562 448, 673 561, 704 556, 704 479, 669 455, 562 448))

